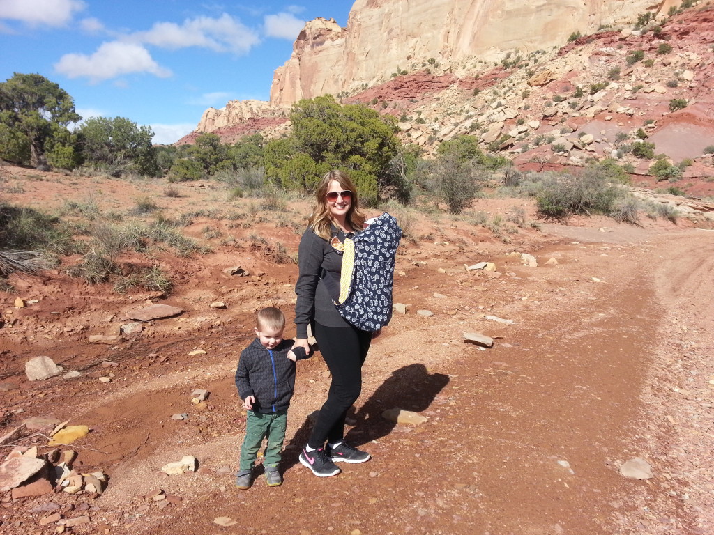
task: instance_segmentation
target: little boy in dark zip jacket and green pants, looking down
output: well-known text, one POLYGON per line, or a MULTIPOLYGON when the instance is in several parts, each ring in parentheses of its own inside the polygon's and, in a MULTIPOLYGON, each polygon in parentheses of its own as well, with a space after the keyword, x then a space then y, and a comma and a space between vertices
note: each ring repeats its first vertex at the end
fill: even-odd
POLYGON ((285 316, 275 307, 256 316, 256 339, 241 352, 236 387, 248 414, 246 438, 241 447, 241 466, 236 474, 238 489, 253 482, 253 464, 263 439, 267 438, 263 467, 268 486, 282 484, 278 463, 285 440, 288 407, 295 389, 295 361, 306 359, 303 347, 294 350, 293 340, 283 340, 285 316))

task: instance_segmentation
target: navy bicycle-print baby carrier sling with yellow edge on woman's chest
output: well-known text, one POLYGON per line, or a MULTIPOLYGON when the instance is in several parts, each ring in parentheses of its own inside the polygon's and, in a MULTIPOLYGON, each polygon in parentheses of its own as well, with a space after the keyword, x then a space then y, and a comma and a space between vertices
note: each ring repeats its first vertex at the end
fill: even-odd
POLYGON ((345 239, 340 283, 324 281, 340 315, 363 331, 374 332, 392 317, 394 263, 402 231, 388 213, 375 218, 354 238, 345 239))

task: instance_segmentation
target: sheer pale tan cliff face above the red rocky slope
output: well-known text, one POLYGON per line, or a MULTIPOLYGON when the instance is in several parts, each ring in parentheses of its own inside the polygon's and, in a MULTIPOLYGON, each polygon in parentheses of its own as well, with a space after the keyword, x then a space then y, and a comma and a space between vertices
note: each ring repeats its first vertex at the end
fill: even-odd
POLYGON ((308 22, 276 69, 271 105, 356 91, 398 70, 498 61, 507 51, 560 46, 575 31, 666 14, 676 0, 356 0, 347 28, 308 22))

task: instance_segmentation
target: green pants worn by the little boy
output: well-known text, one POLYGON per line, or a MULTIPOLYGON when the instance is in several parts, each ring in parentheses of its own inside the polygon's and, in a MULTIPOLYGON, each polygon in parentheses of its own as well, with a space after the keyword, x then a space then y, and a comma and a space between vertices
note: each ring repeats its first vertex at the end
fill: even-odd
POLYGON ((241 472, 246 472, 253 468, 261 449, 263 439, 268 437, 263 466, 277 467, 280 462, 280 452, 283 450, 285 442, 285 430, 288 427, 288 409, 273 412, 272 414, 260 414, 248 411, 246 422, 246 438, 243 439, 241 447, 241 472))

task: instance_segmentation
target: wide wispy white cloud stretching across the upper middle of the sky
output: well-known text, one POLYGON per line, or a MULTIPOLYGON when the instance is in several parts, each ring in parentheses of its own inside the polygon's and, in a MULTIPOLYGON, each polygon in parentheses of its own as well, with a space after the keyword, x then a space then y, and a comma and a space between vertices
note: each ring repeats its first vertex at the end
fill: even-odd
POLYGON ((200 46, 233 54, 246 54, 260 41, 255 31, 225 13, 218 19, 208 16, 186 19, 180 26, 174 22, 157 22, 149 31, 132 34, 132 38, 163 49, 200 46))

